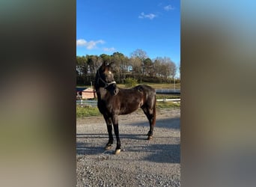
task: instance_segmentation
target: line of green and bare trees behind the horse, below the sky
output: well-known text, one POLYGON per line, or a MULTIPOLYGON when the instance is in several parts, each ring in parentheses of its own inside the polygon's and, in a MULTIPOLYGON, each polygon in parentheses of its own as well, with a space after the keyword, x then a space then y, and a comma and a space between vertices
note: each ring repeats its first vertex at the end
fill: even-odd
MULTIPOLYGON (((90 85, 94 82, 97 69, 103 62, 112 63, 115 81, 121 84, 127 78, 137 79, 139 83, 171 83, 177 73, 177 66, 170 58, 150 59, 146 52, 136 49, 129 58, 121 52, 114 52, 112 55, 76 56, 76 84, 90 85)), ((180 82, 180 79, 175 79, 175 82, 180 82)))

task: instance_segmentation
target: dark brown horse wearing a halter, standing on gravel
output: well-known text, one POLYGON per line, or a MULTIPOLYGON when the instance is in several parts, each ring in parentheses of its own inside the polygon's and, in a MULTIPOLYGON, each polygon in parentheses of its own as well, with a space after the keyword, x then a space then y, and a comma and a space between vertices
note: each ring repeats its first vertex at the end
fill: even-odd
POLYGON ((129 114, 142 108, 150 123, 147 139, 153 136, 153 127, 156 124, 156 91, 147 85, 138 85, 130 89, 118 88, 114 75, 110 71, 110 64, 103 63, 97 70, 94 88, 97 92, 98 108, 106 120, 109 132, 109 141, 105 149, 112 147, 114 138, 112 135, 112 124, 117 139, 115 154, 121 152, 121 141, 118 130, 118 115, 129 114))

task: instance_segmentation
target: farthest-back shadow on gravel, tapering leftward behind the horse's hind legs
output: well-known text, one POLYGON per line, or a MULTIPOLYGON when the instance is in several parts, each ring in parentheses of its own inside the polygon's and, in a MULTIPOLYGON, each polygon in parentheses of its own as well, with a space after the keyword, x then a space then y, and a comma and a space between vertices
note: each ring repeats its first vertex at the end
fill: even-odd
MULTIPOLYGON (((144 121, 140 123, 128 123, 129 126, 148 126, 149 122, 144 121)), ((180 129, 180 117, 166 118, 157 120, 156 116, 156 128, 168 128, 168 129, 180 129)))

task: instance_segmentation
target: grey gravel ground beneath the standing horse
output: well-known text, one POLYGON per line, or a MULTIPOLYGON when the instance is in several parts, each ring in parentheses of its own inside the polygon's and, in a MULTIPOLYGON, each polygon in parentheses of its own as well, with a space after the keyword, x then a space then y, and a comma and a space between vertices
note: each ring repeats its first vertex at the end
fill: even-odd
POLYGON ((104 150, 103 117, 77 119, 76 186, 180 186, 180 109, 156 113, 153 139, 143 112, 119 117, 121 153, 104 150))

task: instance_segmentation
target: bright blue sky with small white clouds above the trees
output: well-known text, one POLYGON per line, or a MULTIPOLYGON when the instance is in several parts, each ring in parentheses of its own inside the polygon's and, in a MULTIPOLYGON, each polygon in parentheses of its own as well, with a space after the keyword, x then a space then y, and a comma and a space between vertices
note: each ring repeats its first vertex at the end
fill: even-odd
POLYGON ((76 55, 135 49, 180 64, 180 0, 76 1, 76 55))

